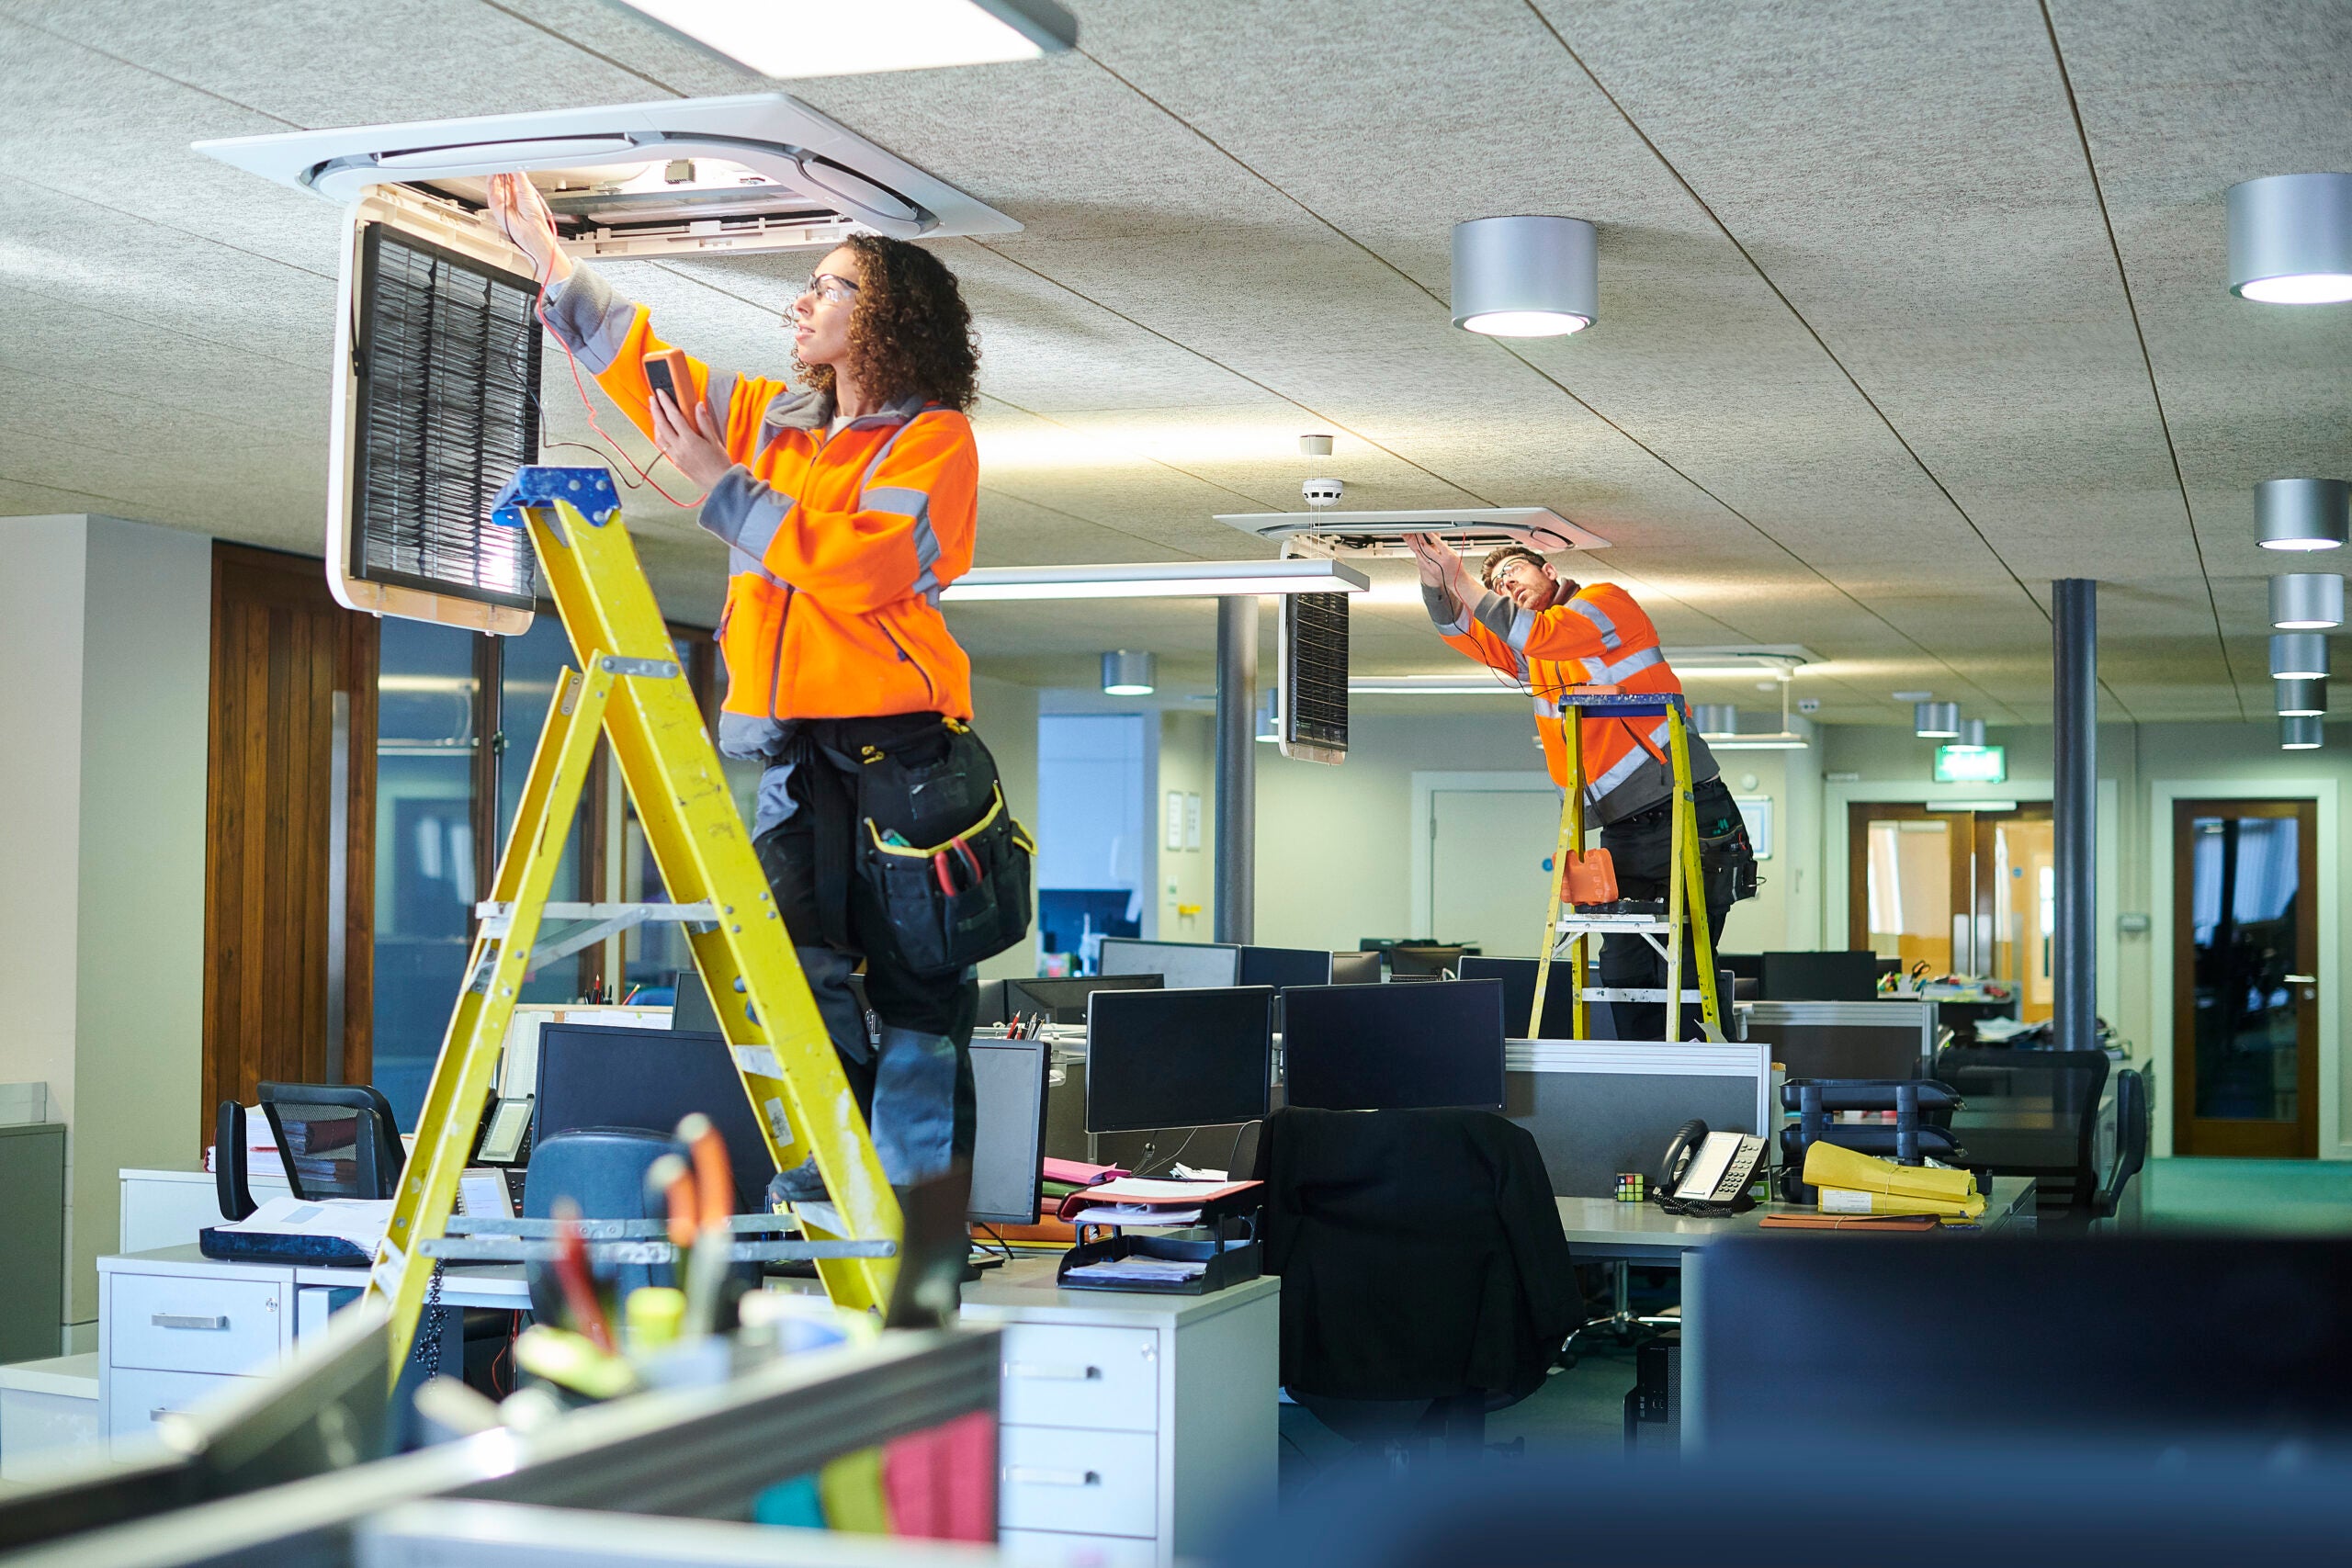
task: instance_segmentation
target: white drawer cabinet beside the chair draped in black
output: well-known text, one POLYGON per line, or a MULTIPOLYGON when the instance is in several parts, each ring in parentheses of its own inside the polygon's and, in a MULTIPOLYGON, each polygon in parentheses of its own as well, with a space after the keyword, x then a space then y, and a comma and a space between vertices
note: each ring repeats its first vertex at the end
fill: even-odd
POLYGON ((1207 1556, 1275 1497, 1282 1281, 1063 1291, 1054 1265, 964 1286, 964 1319, 1004 1328, 1004 1554, 1065 1568, 1207 1556))

